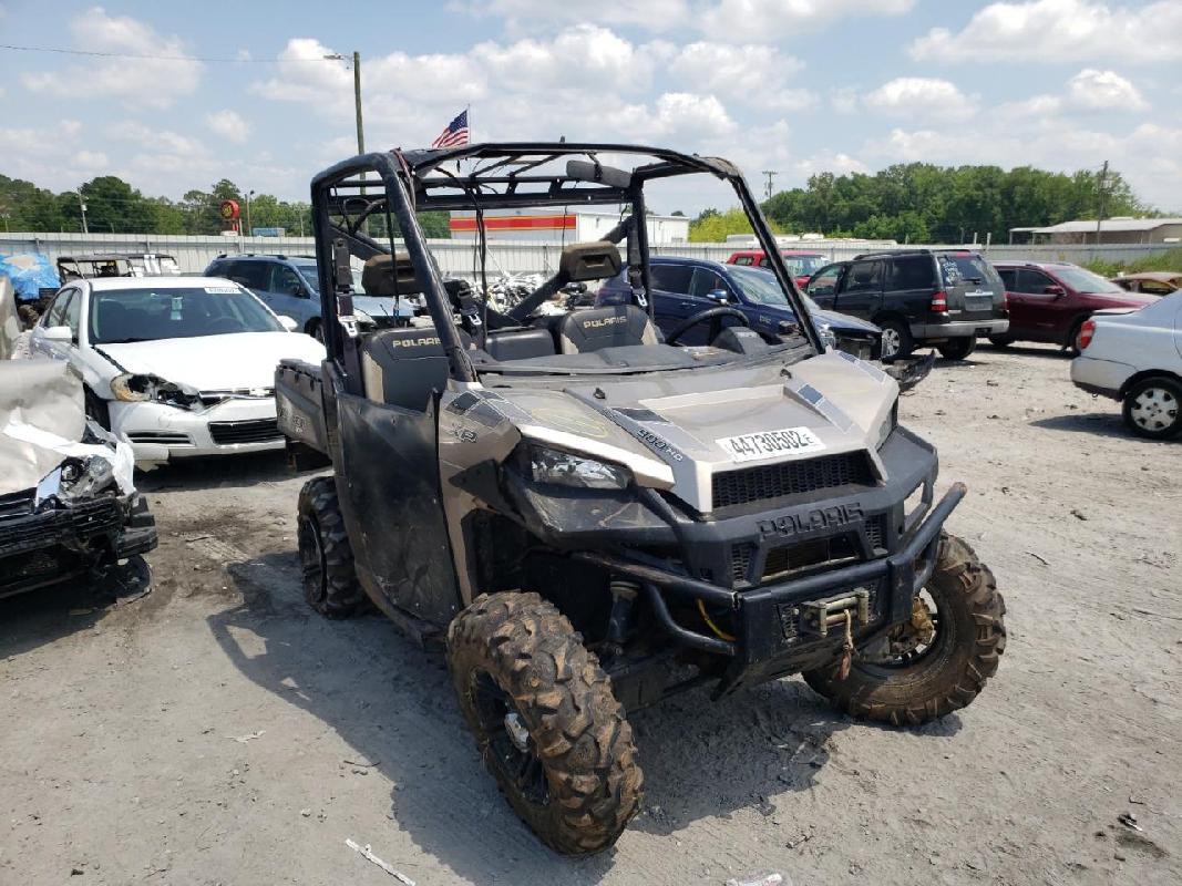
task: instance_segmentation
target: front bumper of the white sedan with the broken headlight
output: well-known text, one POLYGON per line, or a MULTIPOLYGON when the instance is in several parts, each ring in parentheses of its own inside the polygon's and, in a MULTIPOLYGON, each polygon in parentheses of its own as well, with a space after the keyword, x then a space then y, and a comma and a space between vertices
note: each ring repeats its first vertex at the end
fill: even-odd
POLYGON ((131 443, 137 462, 284 448, 274 397, 227 399, 196 410, 119 400, 108 405, 111 430, 131 443))

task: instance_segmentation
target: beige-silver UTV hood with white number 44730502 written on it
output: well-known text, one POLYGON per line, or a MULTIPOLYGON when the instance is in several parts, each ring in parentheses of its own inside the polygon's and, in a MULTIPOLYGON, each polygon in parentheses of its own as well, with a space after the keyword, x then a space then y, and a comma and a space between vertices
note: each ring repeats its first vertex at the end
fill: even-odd
POLYGON ((641 486, 668 489, 707 513, 717 473, 865 451, 883 477, 879 434, 897 395, 895 380, 876 367, 829 352, 792 366, 572 380, 563 390, 514 385, 498 389, 491 404, 522 437, 623 464, 641 486), (768 435, 760 439, 777 454, 760 456, 760 439, 754 455, 735 454, 734 438, 759 435, 768 435))

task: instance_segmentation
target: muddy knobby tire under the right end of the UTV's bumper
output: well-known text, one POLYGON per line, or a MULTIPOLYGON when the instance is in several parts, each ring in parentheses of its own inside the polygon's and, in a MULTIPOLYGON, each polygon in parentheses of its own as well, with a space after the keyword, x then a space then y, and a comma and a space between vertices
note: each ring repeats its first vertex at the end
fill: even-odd
POLYGON ((915 660, 889 665, 855 662, 839 678, 839 663, 804 678, 817 692, 856 717, 918 725, 969 704, 998 671, 1006 649, 1006 604, 989 568, 968 545, 941 533, 927 592, 936 605, 930 647, 915 660))

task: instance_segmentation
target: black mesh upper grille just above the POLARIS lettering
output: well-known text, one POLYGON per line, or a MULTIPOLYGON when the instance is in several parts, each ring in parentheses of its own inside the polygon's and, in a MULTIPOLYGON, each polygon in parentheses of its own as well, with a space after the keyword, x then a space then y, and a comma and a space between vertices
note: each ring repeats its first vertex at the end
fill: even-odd
POLYGON ((712 502, 714 510, 720 510, 840 486, 872 486, 873 482, 870 458, 864 451, 825 455, 715 474, 712 502))

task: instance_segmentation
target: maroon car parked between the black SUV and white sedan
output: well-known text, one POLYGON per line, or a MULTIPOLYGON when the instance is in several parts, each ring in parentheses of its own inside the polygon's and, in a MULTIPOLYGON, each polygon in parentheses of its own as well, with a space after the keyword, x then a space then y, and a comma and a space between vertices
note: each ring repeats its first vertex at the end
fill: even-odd
POLYGON ((1125 292, 1099 274, 1067 262, 999 261, 994 267, 1009 301, 1009 330, 989 337, 998 347, 1011 341, 1048 341, 1079 353, 1080 327, 1092 312, 1142 308, 1157 301, 1151 295, 1125 292))

